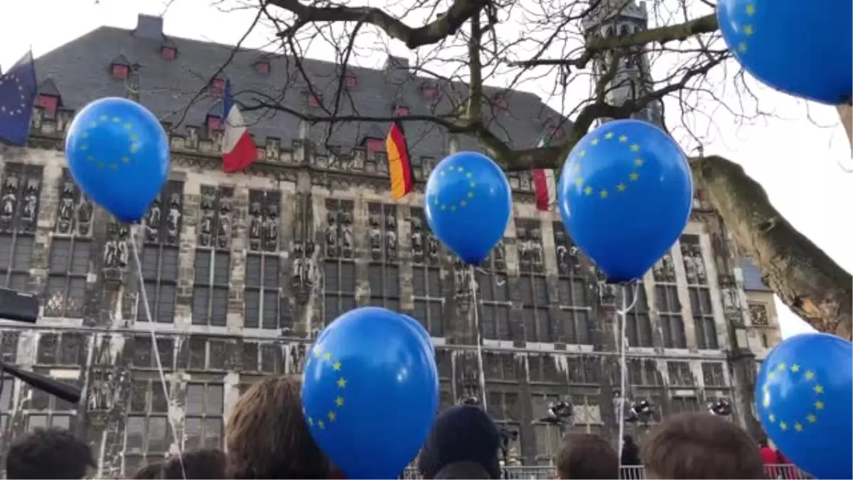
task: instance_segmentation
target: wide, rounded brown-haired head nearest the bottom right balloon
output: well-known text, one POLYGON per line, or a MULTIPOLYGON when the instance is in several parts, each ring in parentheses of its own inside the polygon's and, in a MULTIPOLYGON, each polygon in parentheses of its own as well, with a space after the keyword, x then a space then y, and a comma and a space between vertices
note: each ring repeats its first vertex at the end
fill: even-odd
POLYGON ((682 413, 664 420, 644 442, 648 480, 763 480, 764 467, 746 431, 722 417, 682 413))

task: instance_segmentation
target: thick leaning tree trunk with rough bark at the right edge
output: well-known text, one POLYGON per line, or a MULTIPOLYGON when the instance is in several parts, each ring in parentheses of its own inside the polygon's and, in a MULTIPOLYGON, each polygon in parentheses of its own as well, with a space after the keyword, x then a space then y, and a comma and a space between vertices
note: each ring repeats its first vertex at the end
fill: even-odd
POLYGON ((740 165, 691 159, 693 179, 722 216, 741 253, 777 296, 818 331, 853 336, 853 276, 797 231, 740 165))

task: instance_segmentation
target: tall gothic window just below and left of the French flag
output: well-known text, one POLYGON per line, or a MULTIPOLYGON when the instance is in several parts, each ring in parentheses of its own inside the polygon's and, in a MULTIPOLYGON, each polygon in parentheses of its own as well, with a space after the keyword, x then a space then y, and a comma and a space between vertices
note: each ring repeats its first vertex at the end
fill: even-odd
POLYGON ((231 278, 231 225, 234 190, 201 186, 195 249, 193 325, 225 326, 231 278))

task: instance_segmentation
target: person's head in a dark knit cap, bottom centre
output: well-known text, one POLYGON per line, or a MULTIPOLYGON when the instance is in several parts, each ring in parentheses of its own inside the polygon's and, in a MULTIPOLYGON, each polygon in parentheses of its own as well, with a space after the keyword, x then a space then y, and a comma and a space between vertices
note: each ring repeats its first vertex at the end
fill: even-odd
POLYGON ((418 457, 423 480, 500 480, 501 434, 478 407, 459 405, 438 415, 418 457))

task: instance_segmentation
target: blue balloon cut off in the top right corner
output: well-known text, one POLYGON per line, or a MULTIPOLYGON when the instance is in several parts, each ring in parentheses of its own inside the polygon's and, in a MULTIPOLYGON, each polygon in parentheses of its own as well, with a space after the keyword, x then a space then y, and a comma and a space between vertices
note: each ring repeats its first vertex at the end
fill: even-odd
POLYGON ((853 3, 721 0, 717 20, 735 58, 771 87, 837 105, 853 94, 853 3))

